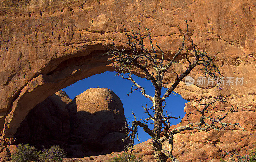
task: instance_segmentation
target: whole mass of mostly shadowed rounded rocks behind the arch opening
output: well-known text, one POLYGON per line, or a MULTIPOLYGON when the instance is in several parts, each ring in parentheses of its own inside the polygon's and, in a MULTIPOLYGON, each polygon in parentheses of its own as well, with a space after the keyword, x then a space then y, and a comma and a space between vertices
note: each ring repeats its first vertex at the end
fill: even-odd
POLYGON ((91 88, 71 100, 59 91, 36 105, 14 137, 38 150, 61 146, 68 157, 123 151, 125 132, 121 100, 107 88, 91 88))

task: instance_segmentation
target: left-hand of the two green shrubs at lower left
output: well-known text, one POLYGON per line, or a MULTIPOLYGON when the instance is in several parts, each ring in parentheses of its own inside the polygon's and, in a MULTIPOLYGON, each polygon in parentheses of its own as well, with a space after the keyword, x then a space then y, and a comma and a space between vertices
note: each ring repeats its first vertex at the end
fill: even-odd
POLYGON ((38 152, 30 144, 18 144, 17 150, 13 153, 13 162, 30 162, 38 159, 38 152))

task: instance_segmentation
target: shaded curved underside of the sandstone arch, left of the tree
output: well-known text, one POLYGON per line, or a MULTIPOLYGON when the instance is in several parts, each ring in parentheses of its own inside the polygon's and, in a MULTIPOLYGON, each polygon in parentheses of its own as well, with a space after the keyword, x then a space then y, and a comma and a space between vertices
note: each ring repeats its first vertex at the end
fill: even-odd
POLYGON ((76 81, 107 70, 113 70, 108 67, 108 57, 102 56, 102 51, 96 52, 98 56, 95 56, 94 52, 92 52, 90 56, 68 59, 60 63, 51 73, 39 74, 29 81, 11 105, 12 111, 6 116, 8 121, 5 119, 4 123, 3 138, 12 137, 28 112, 48 96, 76 81), (94 63, 92 58, 95 60, 94 63), (62 67, 62 65, 65 66, 62 67))

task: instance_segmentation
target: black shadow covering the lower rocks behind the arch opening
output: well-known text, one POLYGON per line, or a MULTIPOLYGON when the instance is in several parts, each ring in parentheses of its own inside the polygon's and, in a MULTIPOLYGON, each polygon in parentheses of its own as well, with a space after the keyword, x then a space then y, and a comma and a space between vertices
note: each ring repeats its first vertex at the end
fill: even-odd
POLYGON ((36 105, 22 121, 14 135, 17 138, 15 144, 29 143, 37 150, 59 145, 67 152, 67 157, 71 158, 124 150, 125 143, 121 143, 121 139, 125 137, 125 132, 120 130, 125 123, 116 122, 125 121, 124 115, 120 116, 115 110, 95 113, 76 111, 76 98, 66 104, 58 95, 48 97, 36 105), (66 106, 63 108, 56 105, 52 97, 58 99, 58 105, 66 106), (71 104, 72 109, 68 109, 71 104), (113 140, 112 136, 120 136, 120 141, 113 140))

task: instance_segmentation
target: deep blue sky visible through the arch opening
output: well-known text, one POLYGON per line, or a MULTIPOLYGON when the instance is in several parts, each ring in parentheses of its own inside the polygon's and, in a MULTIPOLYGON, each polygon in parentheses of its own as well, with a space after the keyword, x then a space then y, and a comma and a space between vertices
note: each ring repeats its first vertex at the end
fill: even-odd
MULTIPOLYGON (((62 90, 65 91, 71 99, 74 99, 77 95, 83 93, 89 88, 98 86, 100 88, 108 88, 112 90, 123 102, 124 115, 126 119, 128 118, 129 121, 132 121, 132 112, 135 114, 137 120, 148 118, 148 115, 145 113, 145 110, 142 108, 142 106, 145 107, 147 104, 148 107, 151 107, 152 102, 150 102, 149 99, 144 97, 141 92, 138 91, 133 91, 132 94, 128 96, 127 94, 130 92, 131 86, 133 85, 132 82, 115 75, 116 72, 105 72, 93 75, 91 77, 77 81, 76 83, 62 90)), ((155 90, 150 81, 145 81, 145 79, 135 75, 133 75, 133 79, 145 88, 145 92, 148 95, 154 96, 155 90)), ((162 88, 162 93, 164 94, 166 90, 166 88, 162 88)), ((178 120, 171 119, 171 125, 180 123, 181 118, 185 116, 184 105, 186 102, 188 101, 184 100, 180 95, 171 94, 168 98, 166 98, 167 105, 165 110, 167 110, 171 116, 180 116, 180 119, 178 120)), ((149 128, 153 129, 152 124, 149 124, 149 128)), ((138 128, 138 134, 140 142, 144 142, 150 139, 150 136, 141 128, 138 128)), ((138 140, 135 141, 135 144, 138 144, 138 140)))

